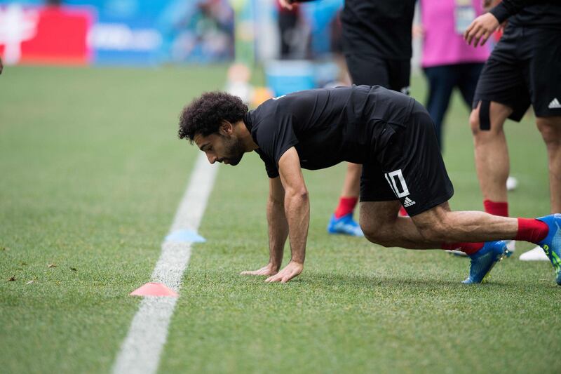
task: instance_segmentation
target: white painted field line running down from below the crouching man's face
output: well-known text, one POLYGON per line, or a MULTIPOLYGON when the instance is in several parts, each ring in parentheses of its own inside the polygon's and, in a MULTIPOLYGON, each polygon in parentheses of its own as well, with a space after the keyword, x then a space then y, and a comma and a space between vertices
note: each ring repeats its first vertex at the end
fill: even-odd
MULTIPOLYGON (((170 233, 178 229, 198 229, 217 170, 217 166, 208 163, 204 154, 198 157, 170 233)), ((164 241, 160 258, 152 272, 152 281, 163 283, 179 293, 190 256, 191 243, 164 241)), ((113 373, 156 373, 176 302, 177 298, 142 299, 114 363, 113 373)))

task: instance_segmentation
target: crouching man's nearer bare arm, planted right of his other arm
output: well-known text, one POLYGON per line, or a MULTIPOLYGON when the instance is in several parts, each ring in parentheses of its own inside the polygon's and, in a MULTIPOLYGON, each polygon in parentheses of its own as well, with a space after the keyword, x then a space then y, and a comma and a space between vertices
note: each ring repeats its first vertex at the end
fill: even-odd
POLYGON ((310 201, 295 147, 291 147, 280 157, 278 171, 285 189, 284 209, 292 256, 284 269, 276 275, 269 276, 266 281, 284 283, 290 281, 304 269, 310 222, 310 201))

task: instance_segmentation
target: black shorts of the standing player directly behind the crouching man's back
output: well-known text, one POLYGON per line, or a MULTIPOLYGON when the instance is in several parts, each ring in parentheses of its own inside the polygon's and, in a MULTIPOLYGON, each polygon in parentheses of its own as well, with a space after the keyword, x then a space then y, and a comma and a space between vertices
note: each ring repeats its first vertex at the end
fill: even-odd
POLYGON ((388 60, 355 53, 345 53, 345 60, 353 84, 378 85, 409 95, 410 60, 388 60))

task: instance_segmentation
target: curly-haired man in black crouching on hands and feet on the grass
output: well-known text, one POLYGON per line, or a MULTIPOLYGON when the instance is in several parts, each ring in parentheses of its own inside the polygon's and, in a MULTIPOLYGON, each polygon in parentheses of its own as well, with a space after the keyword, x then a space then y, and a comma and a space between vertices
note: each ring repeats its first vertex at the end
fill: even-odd
POLYGON ((500 239, 541 245, 561 284, 561 215, 508 218, 452 212, 448 178, 434 125, 414 99, 381 86, 300 91, 267 100, 248 112, 240 98, 205 93, 184 107, 179 137, 210 163, 237 165, 255 151, 269 175, 269 263, 255 272, 266 281, 290 281, 302 272, 309 196, 301 168, 342 161, 363 164, 360 227, 372 243, 412 249, 459 249, 471 257, 464 283, 480 283, 506 254, 500 239), (400 206, 410 217, 398 217, 400 206), (292 258, 279 271, 290 238, 292 258))

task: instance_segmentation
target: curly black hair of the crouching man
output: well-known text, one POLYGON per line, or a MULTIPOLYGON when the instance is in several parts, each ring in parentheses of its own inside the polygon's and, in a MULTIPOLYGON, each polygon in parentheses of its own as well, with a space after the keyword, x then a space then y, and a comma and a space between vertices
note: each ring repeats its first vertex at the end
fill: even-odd
POLYGON ((203 93, 183 108, 177 135, 192 143, 196 134, 217 133, 222 121, 236 123, 247 112, 248 106, 237 96, 220 91, 203 93))

